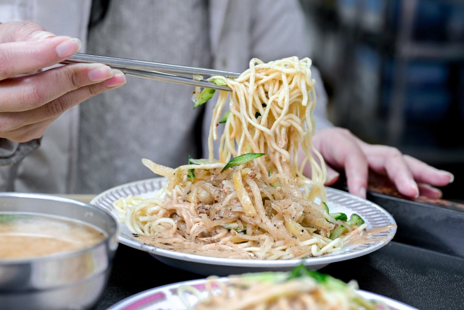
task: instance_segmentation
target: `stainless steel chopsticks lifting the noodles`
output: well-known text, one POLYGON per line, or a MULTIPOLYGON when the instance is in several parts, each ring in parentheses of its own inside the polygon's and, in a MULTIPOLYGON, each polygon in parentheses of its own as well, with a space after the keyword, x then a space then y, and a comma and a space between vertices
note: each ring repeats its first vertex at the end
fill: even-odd
POLYGON ((215 85, 214 83, 205 80, 197 80, 194 79, 194 75, 200 75, 202 77, 222 75, 228 78, 237 78, 240 76, 240 73, 228 71, 184 67, 144 60, 90 55, 82 53, 75 53, 69 59, 63 61, 63 63, 100 63, 112 67, 114 69, 119 69, 127 75, 136 76, 144 79, 178 83, 191 86, 208 87, 229 91, 231 89, 227 86, 215 85))

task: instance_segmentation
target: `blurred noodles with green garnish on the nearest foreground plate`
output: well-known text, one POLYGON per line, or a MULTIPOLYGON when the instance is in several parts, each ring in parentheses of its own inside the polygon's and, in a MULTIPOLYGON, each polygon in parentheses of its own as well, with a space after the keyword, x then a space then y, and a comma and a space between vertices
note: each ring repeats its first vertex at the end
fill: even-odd
POLYGON ((182 285, 177 293, 187 310, 390 309, 358 295, 356 281, 347 284, 313 271, 297 277, 293 273, 209 277, 204 288, 182 285))

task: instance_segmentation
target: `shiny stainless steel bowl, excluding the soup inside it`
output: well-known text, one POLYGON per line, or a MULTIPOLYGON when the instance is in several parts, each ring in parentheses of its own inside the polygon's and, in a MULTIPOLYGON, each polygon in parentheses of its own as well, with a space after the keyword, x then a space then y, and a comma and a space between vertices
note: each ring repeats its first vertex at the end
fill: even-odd
POLYGON ((106 287, 116 252, 115 219, 98 207, 44 194, 0 193, 0 212, 57 216, 90 224, 106 235, 99 243, 77 251, 0 259, 0 308, 92 308, 106 287))

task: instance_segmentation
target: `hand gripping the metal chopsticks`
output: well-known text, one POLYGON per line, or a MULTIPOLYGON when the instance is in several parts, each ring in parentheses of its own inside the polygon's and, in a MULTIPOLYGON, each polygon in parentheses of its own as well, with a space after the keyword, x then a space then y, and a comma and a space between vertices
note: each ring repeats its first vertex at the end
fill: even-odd
POLYGON ((28 74, 69 58, 81 41, 56 36, 35 23, 0 25, 0 138, 25 142, 72 106, 126 82, 102 64, 73 64, 28 74))

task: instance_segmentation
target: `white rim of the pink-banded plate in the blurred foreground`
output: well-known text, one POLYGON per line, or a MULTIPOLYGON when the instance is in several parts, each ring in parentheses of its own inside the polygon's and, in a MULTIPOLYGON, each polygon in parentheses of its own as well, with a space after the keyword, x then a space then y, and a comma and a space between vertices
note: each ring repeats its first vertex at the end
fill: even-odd
MULTIPOLYGON (((107 310, 185 310, 185 306, 177 294, 177 289, 181 285, 190 285, 202 291, 204 290, 205 282, 206 279, 199 279, 160 286, 123 299, 107 310)), ((382 302, 389 307, 388 310, 417 310, 416 308, 385 296, 361 290, 358 290, 358 293, 365 299, 382 302)), ((190 297, 189 302, 192 304, 197 301, 191 294, 188 294, 188 296, 190 297)), ((380 309, 387 310, 383 307, 380 309)))

